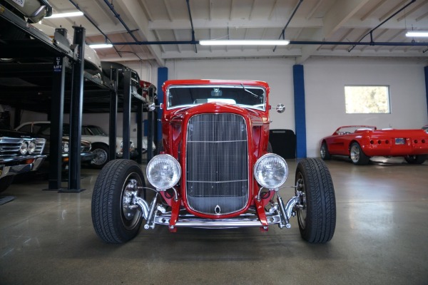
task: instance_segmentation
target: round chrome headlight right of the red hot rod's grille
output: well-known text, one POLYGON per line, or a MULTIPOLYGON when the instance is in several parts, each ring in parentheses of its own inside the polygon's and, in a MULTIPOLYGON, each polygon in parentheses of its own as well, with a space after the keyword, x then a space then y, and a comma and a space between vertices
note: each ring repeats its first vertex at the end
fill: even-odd
POLYGON ((254 165, 255 180, 267 189, 275 189, 284 184, 288 176, 287 162, 275 153, 260 157, 254 165))

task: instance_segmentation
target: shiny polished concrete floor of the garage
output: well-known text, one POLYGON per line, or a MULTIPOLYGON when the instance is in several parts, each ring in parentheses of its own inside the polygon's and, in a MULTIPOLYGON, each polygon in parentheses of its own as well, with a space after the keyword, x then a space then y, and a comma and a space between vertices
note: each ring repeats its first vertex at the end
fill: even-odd
MULTIPOLYGON (((292 185, 296 161, 287 162, 292 185)), ((105 244, 91 222, 98 170, 82 170, 80 193, 14 183, 1 194, 16 198, 0 205, 0 284, 428 284, 428 163, 384 162, 327 162, 337 226, 316 245, 300 239, 295 218, 264 233, 158 226, 105 244)))

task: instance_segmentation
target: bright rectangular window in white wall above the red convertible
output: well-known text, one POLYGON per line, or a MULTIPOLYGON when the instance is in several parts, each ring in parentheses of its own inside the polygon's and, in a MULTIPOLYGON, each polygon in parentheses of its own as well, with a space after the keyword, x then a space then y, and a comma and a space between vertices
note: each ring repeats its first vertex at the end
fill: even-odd
POLYGON ((389 86, 345 86, 347 114, 389 114, 389 86))

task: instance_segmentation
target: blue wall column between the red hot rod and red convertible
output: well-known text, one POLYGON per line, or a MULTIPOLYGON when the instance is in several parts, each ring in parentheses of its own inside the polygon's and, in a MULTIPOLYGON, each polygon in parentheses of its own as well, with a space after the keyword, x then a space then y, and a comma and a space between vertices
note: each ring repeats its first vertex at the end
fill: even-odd
POLYGON ((296 129, 296 157, 306 157, 306 110, 305 110, 305 75, 303 66, 292 66, 292 83, 295 99, 295 129, 296 129))

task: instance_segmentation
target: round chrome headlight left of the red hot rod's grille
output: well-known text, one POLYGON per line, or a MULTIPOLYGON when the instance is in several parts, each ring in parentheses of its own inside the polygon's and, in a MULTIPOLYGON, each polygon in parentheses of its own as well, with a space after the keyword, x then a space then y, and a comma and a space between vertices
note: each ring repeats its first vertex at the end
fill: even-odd
POLYGON ((156 189, 166 190, 177 184, 181 177, 180 163, 170 155, 156 155, 148 162, 148 182, 156 189))

